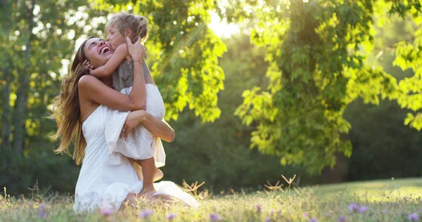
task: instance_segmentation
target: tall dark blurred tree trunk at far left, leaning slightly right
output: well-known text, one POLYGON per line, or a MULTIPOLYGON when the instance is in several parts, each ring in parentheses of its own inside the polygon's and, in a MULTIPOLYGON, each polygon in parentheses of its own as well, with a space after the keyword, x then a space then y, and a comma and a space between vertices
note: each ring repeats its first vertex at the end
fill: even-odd
POLYGON ((25 71, 19 74, 19 87, 16 93, 15 105, 15 132, 13 133, 13 150, 20 155, 25 145, 25 120, 27 119, 27 96, 29 91, 29 81, 31 74, 31 41, 34 38, 32 28, 34 28, 34 5, 35 1, 31 1, 28 6, 28 41, 25 51, 25 71))

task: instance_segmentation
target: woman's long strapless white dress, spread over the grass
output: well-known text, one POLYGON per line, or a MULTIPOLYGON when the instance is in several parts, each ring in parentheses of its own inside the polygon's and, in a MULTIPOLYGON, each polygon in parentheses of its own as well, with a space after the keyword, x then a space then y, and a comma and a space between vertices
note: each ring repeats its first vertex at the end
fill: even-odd
MULTIPOLYGON (((108 108, 100 105, 82 124, 87 148, 75 189, 77 212, 98 208, 119 209, 129 192, 141 192, 143 181, 129 162, 108 164, 108 148, 104 138, 108 108)), ((198 207, 198 201, 171 181, 154 183, 154 195, 170 195, 198 207)))

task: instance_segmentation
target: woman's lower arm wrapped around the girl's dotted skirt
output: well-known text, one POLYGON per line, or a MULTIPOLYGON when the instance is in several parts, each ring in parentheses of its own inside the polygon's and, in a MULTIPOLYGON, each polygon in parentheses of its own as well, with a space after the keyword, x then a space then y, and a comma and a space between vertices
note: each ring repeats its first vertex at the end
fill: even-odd
POLYGON ((123 136, 127 138, 129 132, 139 124, 143 124, 154 136, 161 138, 163 141, 172 142, 174 139, 174 130, 167 122, 163 119, 153 117, 144 110, 136 110, 127 115, 126 122, 124 122, 123 126, 125 131, 122 131, 120 138, 123 136))

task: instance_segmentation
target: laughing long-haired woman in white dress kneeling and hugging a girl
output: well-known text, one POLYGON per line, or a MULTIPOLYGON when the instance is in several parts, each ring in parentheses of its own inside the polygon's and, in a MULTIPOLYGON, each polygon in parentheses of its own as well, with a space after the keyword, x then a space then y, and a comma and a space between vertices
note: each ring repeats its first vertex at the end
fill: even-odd
MULTIPOLYGON (((129 54, 141 61, 145 49, 137 41, 127 41, 129 54)), ((89 67, 104 65, 113 55, 110 45, 96 37, 90 37, 79 47, 70 69, 63 79, 60 96, 53 104, 58 131, 61 138, 56 152, 68 152, 70 141, 75 142, 73 158, 77 164, 83 160, 75 190, 75 211, 92 211, 98 208, 119 209, 124 201, 133 201, 142 189, 142 181, 131 164, 108 164, 108 148, 104 138, 108 107, 122 111, 133 111, 127 116, 125 134, 137 124, 144 124, 155 136, 172 141, 174 131, 161 119, 152 117, 137 98, 136 84, 143 78, 141 63, 134 63, 134 86, 129 95, 111 89, 111 77, 96 79, 88 74, 89 67)), ((154 184, 156 195, 170 195, 197 207, 198 202, 170 181, 154 184)))

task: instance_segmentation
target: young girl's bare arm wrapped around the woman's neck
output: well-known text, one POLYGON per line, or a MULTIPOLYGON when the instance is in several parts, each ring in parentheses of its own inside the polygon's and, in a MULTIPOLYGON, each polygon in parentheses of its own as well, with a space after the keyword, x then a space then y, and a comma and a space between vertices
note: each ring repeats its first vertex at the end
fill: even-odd
POLYGON ((127 51, 127 44, 121 44, 117 46, 111 58, 107 61, 106 65, 96 68, 95 70, 90 70, 89 74, 93 75, 94 77, 101 78, 107 77, 114 72, 114 70, 119 67, 120 63, 129 55, 127 51))

